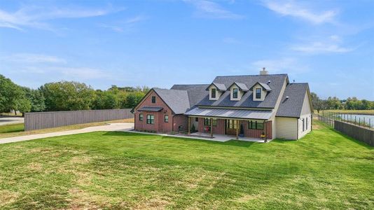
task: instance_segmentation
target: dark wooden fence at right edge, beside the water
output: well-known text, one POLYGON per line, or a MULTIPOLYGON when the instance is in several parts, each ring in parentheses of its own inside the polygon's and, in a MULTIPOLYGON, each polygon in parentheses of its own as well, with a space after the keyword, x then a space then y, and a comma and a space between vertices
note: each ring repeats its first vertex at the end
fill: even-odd
POLYGON ((360 127, 351 123, 345 123, 338 120, 334 120, 334 129, 347 134, 349 137, 363 141, 370 146, 374 146, 374 130, 370 130, 366 127, 360 127))

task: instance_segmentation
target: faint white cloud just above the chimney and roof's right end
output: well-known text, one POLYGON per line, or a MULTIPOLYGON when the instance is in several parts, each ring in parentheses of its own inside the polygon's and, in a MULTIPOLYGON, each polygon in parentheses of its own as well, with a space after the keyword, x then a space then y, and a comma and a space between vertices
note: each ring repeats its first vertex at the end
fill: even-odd
POLYGON ((309 71, 309 67, 300 64, 296 59, 284 57, 282 59, 261 59, 251 63, 254 69, 260 71, 263 67, 269 73, 303 73, 309 71))

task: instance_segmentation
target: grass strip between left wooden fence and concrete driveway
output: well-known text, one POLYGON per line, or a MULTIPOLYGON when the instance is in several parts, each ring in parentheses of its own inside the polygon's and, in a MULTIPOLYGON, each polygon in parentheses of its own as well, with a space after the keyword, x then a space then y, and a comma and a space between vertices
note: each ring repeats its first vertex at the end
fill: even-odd
POLYGON ((78 125, 67 125, 61 127, 53 127, 40 130, 31 130, 25 132, 25 125, 23 123, 10 124, 10 125, 0 125, 0 139, 8 137, 19 137, 31 134, 46 134, 50 132, 61 132, 66 130, 77 130, 85 127, 106 125, 108 123, 134 123, 134 118, 124 119, 124 120, 111 120, 97 123, 85 123, 78 125))

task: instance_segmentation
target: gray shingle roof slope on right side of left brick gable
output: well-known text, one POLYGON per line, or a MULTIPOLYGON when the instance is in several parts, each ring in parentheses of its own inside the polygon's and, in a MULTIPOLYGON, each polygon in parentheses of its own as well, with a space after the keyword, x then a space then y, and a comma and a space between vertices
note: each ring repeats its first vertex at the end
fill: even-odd
POLYGON ((153 90, 155 90, 174 113, 181 114, 190 109, 188 92, 186 90, 169 90, 160 88, 153 88, 153 90))

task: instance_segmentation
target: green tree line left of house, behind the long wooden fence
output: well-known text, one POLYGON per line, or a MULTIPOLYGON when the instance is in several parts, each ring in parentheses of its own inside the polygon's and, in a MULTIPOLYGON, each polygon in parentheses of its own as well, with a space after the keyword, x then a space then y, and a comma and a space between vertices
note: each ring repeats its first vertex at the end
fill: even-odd
POLYGON ((94 90, 74 81, 46 83, 38 89, 21 87, 0 74, 0 113, 13 111, 74 111, 133 108, 149 87, 117 87, 94 90))

